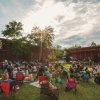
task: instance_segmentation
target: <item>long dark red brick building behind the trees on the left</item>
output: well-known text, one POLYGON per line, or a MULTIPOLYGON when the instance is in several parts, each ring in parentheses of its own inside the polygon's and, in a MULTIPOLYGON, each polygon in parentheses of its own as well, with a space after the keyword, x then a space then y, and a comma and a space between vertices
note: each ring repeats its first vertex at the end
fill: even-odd
MULTIPOLYGON (((23 57, 23 56, 17 56, 16 54, 12 54, 11 52, 11 42, 9 40, 0 38, 0 61, 3 61, 5 59, 16 61, 16 60, 39 60, 40 58, 40 47, 33 47, 31 52, 31 57, 23 57)), ((48 55, 50 54, 51 49, 48 48, 42 48, 41 52, 41 60, 44 61, 48 59, 48 55)))

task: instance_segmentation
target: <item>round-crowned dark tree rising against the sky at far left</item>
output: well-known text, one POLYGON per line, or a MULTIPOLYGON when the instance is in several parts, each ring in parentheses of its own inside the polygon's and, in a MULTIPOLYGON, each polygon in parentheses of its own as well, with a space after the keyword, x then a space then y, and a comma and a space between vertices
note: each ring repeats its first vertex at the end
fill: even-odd
POLYGON ((18 38, 22 36, 21 33, 21 31, 23 30, 22 26, 23 25, 21 22, 16 22, 16 21, 9 22, 9 24, 5 26, 6 27, 5 30, 2 31, 2 34, 6 38, 11 38, 11 39, 18 38))

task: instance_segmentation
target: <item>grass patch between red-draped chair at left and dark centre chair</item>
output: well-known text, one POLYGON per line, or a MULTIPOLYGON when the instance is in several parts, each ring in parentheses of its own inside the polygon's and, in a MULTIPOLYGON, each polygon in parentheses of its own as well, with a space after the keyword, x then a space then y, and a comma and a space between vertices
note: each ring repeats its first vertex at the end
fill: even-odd
POLYGON ((31 85, 23 84, 15 93, 15 100, 39 100, 39 89, 31 85))

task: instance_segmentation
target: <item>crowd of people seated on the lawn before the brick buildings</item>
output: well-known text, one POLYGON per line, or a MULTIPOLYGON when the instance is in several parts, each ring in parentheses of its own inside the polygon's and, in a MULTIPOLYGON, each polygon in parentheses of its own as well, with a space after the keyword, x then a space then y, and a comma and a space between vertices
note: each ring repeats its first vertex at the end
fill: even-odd
POLYGON ((56 88, 54 82, 65 84, 65 89, 76 88, 80 81, 88 82, 94 79, 94 82, 100 85, 100 64, 90 67, 82 63, 72 63, 70 68, 65 68, 60 63, 39 63, 35 62, 11 62, 5 60, 0 64, 0 81, 16 80, 17 73, 23 74, 23 81, 39 81, 39 84, 49 83, 49 89, 53 92, 56 88))

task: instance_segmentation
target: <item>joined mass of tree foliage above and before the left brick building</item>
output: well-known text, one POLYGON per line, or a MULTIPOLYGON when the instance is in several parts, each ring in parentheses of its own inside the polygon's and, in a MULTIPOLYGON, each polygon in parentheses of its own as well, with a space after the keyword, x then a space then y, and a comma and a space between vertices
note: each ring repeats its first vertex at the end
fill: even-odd
POLYGON ((17 57, 28 57, 31 55, 31 50, 34 46, 41 48, 52 47, 54 34, 51 26, 48 26, 45 29, 33 27, 31 34, 28 34, 25 37, 22 36, 22 26, 21 22, 12 21, 5 25, 5 30, 2 31, 3 36, 11 40, 12 54, 17 57))

